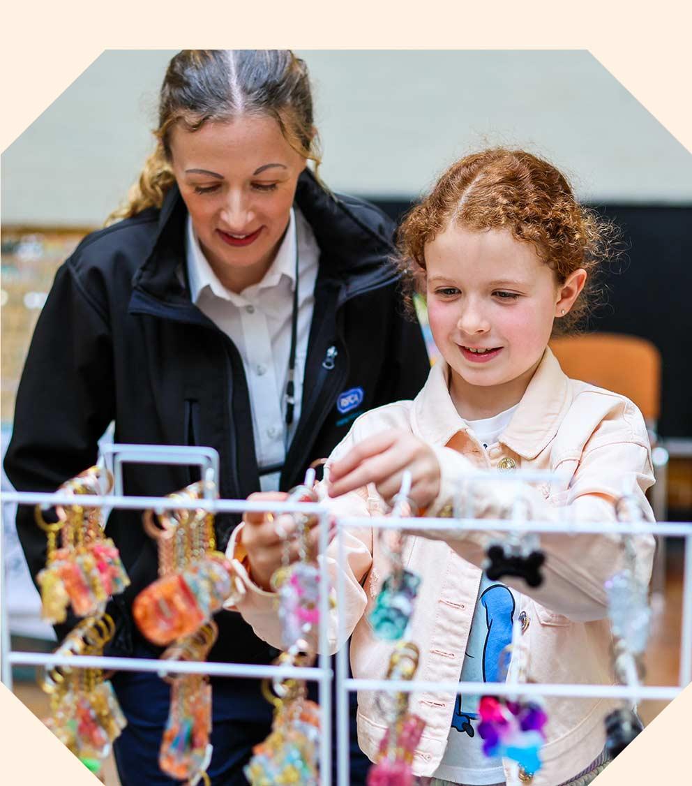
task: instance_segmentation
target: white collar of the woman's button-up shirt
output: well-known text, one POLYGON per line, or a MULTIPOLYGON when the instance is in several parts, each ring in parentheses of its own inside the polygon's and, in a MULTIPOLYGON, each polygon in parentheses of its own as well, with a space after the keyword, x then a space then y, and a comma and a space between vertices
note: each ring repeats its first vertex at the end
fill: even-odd
POLYGON ((185 245, 190 298, 192 299, 192 303, 198 303, 203 290, 209 288, 215 296, 242 306, 260 289, 278 285, 282 276, 286 276, 288 281, 290 281, 292 291, 293 288, 295 288, 295 227, 295 211, 291 208, 287 230, 284 233, 284 238, 281 241, 279 250, 276 252, 276 257, 269 267, 269 270, 265 273, 262 281, 243 289, 241 294, 237 294, 225 288, 222 282, 218 280, 217 275, 214 273, 214 270, 212 270, 211 265, 207 261, 207 257, 200 247, 200 241, 197 240, 195 230, 192 227, 192 219, 188 215, 185 245))

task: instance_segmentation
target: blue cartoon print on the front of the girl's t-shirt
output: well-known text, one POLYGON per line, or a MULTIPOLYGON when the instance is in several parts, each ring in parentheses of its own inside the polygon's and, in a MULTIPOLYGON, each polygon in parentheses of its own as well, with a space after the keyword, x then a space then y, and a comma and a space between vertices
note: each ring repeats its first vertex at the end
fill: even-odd
MULTIPOLYGON (((507 663, 500 663, 500 659, 504 648, 512 641, 514 607, 514 596, 510 590, 503 584, 490 584, 484 574, 461 669, 461 681, 498 682, 504 679, 507 663), (489 586, 484 587, 485 584, 489 586)), ((479 700, 477 694, 456 697, 452 726, 457 731, 474 736, 471 721, 478 718, 479 700)))

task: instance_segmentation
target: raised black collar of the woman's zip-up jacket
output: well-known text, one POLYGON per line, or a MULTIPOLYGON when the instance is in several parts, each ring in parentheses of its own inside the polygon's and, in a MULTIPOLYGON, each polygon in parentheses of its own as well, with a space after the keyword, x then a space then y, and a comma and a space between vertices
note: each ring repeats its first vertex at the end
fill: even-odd
MULTIPOLYGON (((307 169, 298 178, 295 204, 320 247, 320 274, 346 285, 346 296, 352 288, 395 277, 394 265, 382 264, 383 257, 393 255, 394 247, 387 237, 386 219, 379 212, 368 210, 364 218, 365 211, 354 210, 349 197, 326 191, 307 169)), ((152 251, 133 281, 136 287, 171 303, 189 303, 189 288, 177 275, 181 266, 185 270, 187 215, 174 184, 163 198, 152 251)))

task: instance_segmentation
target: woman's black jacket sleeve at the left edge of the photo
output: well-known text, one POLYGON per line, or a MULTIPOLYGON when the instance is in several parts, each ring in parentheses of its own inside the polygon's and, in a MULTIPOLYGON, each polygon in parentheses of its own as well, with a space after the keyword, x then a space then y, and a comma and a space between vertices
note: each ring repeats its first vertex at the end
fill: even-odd
MULTIPOLYGON (((95 463, 98 439, 114 417, 112 366, 105 310, 68 261, 38 318, 16 395, 4 463, 16 490, 54 491, 95 463)), ((17 509, 16 529, 35 582, 46 534, 31 506, 17 509)))

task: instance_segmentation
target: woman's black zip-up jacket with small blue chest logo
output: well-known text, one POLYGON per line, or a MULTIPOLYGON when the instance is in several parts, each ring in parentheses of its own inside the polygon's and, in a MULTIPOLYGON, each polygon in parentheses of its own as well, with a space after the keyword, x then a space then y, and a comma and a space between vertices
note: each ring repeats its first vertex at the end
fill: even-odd
MULTIPOLYGON (((390 219, 364 201, 331 196, 308 172, 295 199, 317 237, 320 261, 301 417, 282 490, 330 453, 357 414, 415 396, 429 369, 419 325, 402 315, 390 219), (334 362, 324 363, 329 347, 336 349, 334 362), (362 401, 353 406, 359 391, 362 401)), ((111 421, 117 443, 214 447, 223 498, 243 499, 259 489, 240 354, 181 284, 186 217, 174 187, 160 211, 90 234, 60 266, 16 397, 5 471, 17 490, 55 490, 93 465, 111 421)), ((170 494, 196 479, 194 472, 126 465, 126 494, 170 494)), ((219 548, 234 524, 232 516, 218 516, 219 548)), ((45 563, 46 536, 30 507, 20 507, 16 525, 35 578, 45 563)), ((156 547, 138 512, 113 511, 108 534, 132 580, 108 609, 118 622, 109 653, 126 655, 140 641, 129 608, 156 578, 156 547)), ((211 659, 269 661, 273 652, 240 615, 221 612, 216 619, 220 635, 211 659)), ((69 621, 58 626, 58 634, 68 627, 69 621)))

